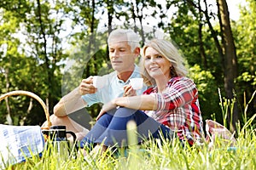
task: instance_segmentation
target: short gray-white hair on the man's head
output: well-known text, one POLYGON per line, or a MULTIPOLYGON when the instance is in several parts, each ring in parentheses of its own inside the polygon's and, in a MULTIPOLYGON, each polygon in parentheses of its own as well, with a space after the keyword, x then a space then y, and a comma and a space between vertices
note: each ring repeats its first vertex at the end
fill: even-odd
MULTIPOLYGON (((125 37, 125 41, 128 42, 128 44, 131 47, 131 51, 133 51, 135 48, 140 48, 140 37, 132 31, 131 29, 125 30, 125 29, 116 29, 113 30, 109 36, 108 36, 108 44, 109 42, 113 41, 113 38, 120 38, 125 37)), ((124 41, 124 38, 120 38, 120 41, 124 41)))

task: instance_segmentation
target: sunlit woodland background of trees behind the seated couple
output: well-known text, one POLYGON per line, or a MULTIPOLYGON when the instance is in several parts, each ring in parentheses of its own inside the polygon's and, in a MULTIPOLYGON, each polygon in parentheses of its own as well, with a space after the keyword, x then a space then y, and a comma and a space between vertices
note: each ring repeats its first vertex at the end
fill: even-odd
MULTIPOLYGON (((176 42, 199 90, 203 119, 227 120, 234 130, 237 122, 255 114, 256 3, 236 3, 235 13, 230 3, 234 2, 1 1, 0 94, 38 94, 52 114, 59 99, 83 78, 111 71, 107 37, 122 26, 141 35, 142 47, 157 33, 176 42)), ((86 111, 95 117, 100 109, 93 105, 86 111)), ((0 103, 2 124, 44 121, 42 106, 29 97, 0 103)))

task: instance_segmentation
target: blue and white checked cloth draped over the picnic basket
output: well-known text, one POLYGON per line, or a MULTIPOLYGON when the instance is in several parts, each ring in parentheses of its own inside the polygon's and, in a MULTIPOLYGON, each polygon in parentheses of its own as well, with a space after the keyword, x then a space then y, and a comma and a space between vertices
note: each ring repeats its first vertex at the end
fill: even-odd
POLYGON ((0 124, 0 169, 26 161, 44 150, 44 136, 39 126, 0 124))

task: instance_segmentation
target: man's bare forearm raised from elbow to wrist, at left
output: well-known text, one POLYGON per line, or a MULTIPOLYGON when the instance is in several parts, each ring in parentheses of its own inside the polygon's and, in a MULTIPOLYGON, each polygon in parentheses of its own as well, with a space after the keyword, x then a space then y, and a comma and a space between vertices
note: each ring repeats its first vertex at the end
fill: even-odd
POLYGON ((61 98, 54 107, 55 116, 67 116, 73 111, 77 111, 86 105, 84 99, 79 94, 79 87, 61 98))

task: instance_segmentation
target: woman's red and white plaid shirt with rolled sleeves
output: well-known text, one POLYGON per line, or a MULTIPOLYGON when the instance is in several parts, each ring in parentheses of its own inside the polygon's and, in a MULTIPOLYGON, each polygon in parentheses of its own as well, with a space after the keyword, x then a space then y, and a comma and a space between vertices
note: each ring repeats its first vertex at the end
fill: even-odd
POLYGON ((179 139, 194 144, 204 136, 198 91, 188 77, 171 78, 162 94, 156 87, 148 88, 143 94, 154 95, 158 103, 156 111, 145 113, 177 132, 179 139))

